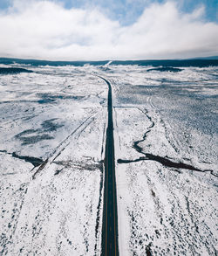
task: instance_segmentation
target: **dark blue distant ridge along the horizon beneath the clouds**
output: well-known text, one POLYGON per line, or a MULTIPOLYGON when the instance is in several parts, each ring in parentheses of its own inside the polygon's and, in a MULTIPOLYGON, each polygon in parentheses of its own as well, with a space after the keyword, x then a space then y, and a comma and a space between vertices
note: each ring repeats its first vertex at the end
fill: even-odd
POLYGON ((147 60, 104 60, 104 61, 51 61, 39 59, 11 59, 0 58, 4 65, 29 65, 29 66, 104 66, 108 65, 138 65, 138 66, 218 66, 218 56, 194 59, 147 59, 147 60))

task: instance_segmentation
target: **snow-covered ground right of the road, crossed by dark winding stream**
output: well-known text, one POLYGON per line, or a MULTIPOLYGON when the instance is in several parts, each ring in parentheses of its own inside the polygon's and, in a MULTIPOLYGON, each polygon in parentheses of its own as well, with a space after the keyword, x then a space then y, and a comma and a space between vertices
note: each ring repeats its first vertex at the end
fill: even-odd
POLYGON ((217 75, 217 67, 108 73, 116 158, 139 160, 116 166, 120 255, 216 255, 217 75))

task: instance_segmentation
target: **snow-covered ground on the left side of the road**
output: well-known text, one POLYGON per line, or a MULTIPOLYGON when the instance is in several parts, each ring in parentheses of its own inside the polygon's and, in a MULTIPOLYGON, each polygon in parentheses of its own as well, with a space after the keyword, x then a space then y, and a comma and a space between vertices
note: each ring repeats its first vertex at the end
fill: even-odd
POLYGON ((99 255, 107 86, 89 69, 0 78, 1 255, 99 255))

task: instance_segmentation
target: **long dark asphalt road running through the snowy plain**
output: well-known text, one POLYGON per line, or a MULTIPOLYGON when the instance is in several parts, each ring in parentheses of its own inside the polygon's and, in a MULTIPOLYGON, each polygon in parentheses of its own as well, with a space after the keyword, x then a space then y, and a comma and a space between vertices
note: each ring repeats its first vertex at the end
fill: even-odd
POLYGON ((112 122, 112 86, 108 80, 108 124, 106 129, 106 155, 105 155, 105 190, 102 225, 102 252, 101 255, 118 256, 118 213, 117 191, 114 161, 113 122, 112 122))

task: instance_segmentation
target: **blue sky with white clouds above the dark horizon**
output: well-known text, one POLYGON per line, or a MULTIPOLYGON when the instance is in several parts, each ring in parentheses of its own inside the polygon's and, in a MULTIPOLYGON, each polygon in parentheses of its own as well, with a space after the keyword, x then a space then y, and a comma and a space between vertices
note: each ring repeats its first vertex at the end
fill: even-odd
POLYGON ((0 0, 0 57, 218 55, 217 0, 0 0))

